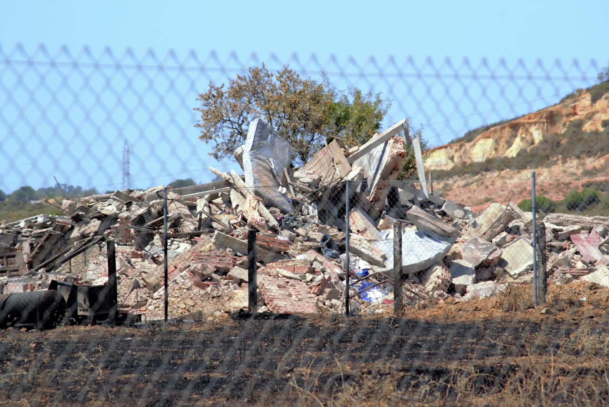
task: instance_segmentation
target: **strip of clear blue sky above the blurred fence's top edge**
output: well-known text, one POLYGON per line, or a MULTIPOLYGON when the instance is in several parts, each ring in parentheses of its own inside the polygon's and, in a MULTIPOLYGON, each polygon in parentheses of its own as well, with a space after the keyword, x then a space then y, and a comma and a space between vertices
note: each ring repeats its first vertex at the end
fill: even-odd
POLYGON ((325 56, 607 59, 602 1, 5 1, 4 44, 325 56))

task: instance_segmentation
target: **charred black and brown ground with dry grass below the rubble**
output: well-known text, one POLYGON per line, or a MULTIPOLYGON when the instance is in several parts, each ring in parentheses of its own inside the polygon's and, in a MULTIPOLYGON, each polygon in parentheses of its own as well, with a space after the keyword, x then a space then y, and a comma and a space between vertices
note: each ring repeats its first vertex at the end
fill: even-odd
POLYGON ((547 314, 529 286, 404 318, 4 330, 0 403, 604 405, 609 290, 572 286, 551 286, 547 314))

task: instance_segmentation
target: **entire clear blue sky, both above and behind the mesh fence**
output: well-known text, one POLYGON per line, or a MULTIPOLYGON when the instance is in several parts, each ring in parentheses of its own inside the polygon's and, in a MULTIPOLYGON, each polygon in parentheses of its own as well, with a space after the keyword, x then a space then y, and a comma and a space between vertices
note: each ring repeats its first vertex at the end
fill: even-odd
MULTIPOLYGON (((312 76, 322 66, 339 88, 382 91, 393 100, 387 125, 407 115, 425 125, 424 136, 432 144, 443 144, 470 128, 543 108, 574 88, 589 86, 596 70, 609 64, 607 38, 609 1, 2 2, 0 47, 14 61, 25 63, 32 55, 33 60, 52 59, 37 51, 40 44, 52 56, 62 54, 62 46, 71 55, 85 55, 87 46, 99 60, 109 47, 122 62, 129 60, 129 48, 136 60, 153 61, 147 54, 152 50, 164 63, 174 64, 172 55, 167 57, 174 50, 187 66, 203 64, 208 70, 192 80, 195 85, 179 88, 180 94, 159 91, 152 96, 159 100, 149 106, 124 92, 119 105, 128 107, 108 113, 103 103, 96 105, 95 95, 66 92, 51 68, 21 71, 30 84, 44 78, 47 93, 53 94, 48 96, 40 86, 14 88, 15 69, 21 68, 0 63, 0 82, 12 98, 3 102, 0 96, 0 155, 5 157, 0 160, 0 189, 46 186, 54 174, 68 184, 119 188, 125 140, 132 145, 135 186, 186 177, 207 181, 207 165, 234 168, 206 156, 208 147, 192 127, 196 116, 191 108, 206 82, 220 82, 260 61, 276 68, 282 63, 304 67, 312 76), (24 54, 15 50, 18 43, 24 54), (191 50, 200 61, 189 58, 191 50), (213 51, 217 60, 209 57, 213 51), (223 71, 227 67, 235 69, 223 71), (561 78, 563 68, 569 78, 561 78), (379 77, 379 69, 385 75, 379 77), (453 71, 471 69, 503 79, 450 77, 453 71), (428 77, 417 78, 421 72, 428 77), (400 74, 407 79, 398 80, 400 74), (511 74, 518 78, 509 78, 511 74), (55 103, 32 106, 30 88, 36 89, 35 99, 54 97, 55 103), (151 120, 161 124, 150 125, 151 120), (58 137, 59 143, 52 142, 58 137)), ((167 86, 162 75, 144 74, 159 89, 167 86)), ((91 83, 95 86, 96 80, 97 98, 115 105, 113 96, 104 94, 101 79, 91 83)), ((113 86, 122 89, 121 80, 117 75, 113 86)), ((138 91, 144 94, 145 88, 143 80, 138 91)))

